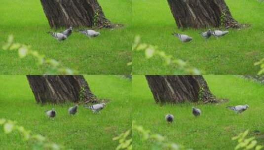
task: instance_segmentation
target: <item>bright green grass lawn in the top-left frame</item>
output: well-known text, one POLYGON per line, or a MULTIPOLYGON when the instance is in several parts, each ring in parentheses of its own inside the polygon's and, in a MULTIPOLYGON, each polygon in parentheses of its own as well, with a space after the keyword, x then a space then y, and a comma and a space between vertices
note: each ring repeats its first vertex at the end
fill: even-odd
MULTIPOLYGON (((1 50, 9 35, 16 42, 31 45, 47 58, 88 75, 129 75, 131 67, 131 0, 98 0, 108 19, 123 24, 117 29, 101 29, 100 37, 89 39, 74 32, 67 40, 57 41, 39 0, 0 0, 0 75, 44 74, 34 58, 18 58, 16 51, 1 50)), ((61 30, 59 30, 61 31, 61 30)))

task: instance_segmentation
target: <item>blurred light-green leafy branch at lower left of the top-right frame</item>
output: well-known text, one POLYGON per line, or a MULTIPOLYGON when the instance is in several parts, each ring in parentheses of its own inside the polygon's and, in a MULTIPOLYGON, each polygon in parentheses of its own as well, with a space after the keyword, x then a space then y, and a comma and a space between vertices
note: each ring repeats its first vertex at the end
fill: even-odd
MULTIPOLYGON (((166 66, 172 65, 176 67, 176 71, 174 73, 175 75, 201 75, 201 72, 198 69, 190 67, 188 63, 181 59, 172 58, 171 55, 167 55, 164 51, 158 50, 157 46, 140 43, 140 37, 135 38, 134 44, 132 45, 132 50, 144 51, 145 57, 147 59, 150 59, 155 55, 161 57, 164 60, 164 64, 166 66)), ((132 65, 132 63, 128 63, 128 65, 132 65)))

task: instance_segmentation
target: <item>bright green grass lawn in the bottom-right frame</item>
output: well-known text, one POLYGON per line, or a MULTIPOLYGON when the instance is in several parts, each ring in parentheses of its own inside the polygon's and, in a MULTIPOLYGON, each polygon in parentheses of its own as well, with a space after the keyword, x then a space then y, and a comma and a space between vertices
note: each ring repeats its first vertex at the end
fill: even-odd
MULTIPOLYGON (((250 130, 259 144, 264 145, 264 85, 233 75, 204 75, 210 90, 219 98, 227 98, 224 104, 155 104, 145 76, 133 75, 133 120, 152 133, 166 136, 169 141, 193 150, 233 150, 237 141, 231 138, 250 130), (236 114, 229 105, 248 104, 249 109, 236 114), (195 118, 191 107, 201 109, 202 114, 195 118), (168 124, 165 114, 174 115, 175 121, 168 124), (261 135, 255 135, 258 130, 261 135)), ((133 149, 150 150, 151 143, 142 142, 133 132, 133 149)))

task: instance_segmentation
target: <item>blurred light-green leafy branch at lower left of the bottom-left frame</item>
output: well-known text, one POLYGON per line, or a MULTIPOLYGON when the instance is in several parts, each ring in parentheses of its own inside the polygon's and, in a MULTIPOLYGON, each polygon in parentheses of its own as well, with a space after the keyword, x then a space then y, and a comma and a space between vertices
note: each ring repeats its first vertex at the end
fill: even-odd
POLYGON ((32 150, 65 150, 63 146, 56 143, 49 142, 47 138, 40 134, 31 134, 23 126, 19 126, 15 121, 0 119, 0 125, 3 126, 4 134, 10 134, 11 132, 18 131, 25 141, 33 141, 34 145, 32 150))

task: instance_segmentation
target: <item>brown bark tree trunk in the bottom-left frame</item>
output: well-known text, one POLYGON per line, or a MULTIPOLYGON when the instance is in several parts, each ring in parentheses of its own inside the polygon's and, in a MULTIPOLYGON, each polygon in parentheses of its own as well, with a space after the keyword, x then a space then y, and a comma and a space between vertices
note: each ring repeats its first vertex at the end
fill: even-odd
POLYGON ((27 75, 38 103, 93 101, 95 95, 82 75, 27 75))

